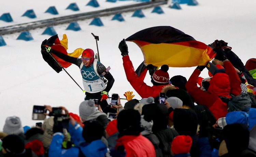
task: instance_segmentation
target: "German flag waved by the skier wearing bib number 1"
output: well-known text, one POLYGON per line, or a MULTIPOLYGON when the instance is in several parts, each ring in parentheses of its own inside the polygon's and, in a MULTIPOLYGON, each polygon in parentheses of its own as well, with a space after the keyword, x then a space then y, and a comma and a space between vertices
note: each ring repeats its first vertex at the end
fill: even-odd
MULTIPOLYGON (((78 58, 84 51, 83 48, 77 48, 75 49, 74 52, 72 53, 68 53, 67 49, 68 49, 68 37, 66 34, 63 34, 63 38, 62 40, 59 40, 58 34, 53 35, 52 37, 50 37, 48 40, 44 40, 42 45, 47 45, 49 47, 51 47, 51 49, 54 49, 55 51, 61 52, 65 55, 71 56, 71 57, 76 57, 78 58)), ((63 68, 68 68, 71 63, 60 59, 59 57, 57 57, 56 55, 52 54, 49 55, 48 53, 44 53, 41 52, 43 55, 43 59, 49 64, 49 66, 51 66, 57 73, 59 73, 62 68, 58 65, 58 63, 52 58, 52 56, 60 63, 60 65, 63 68)))

